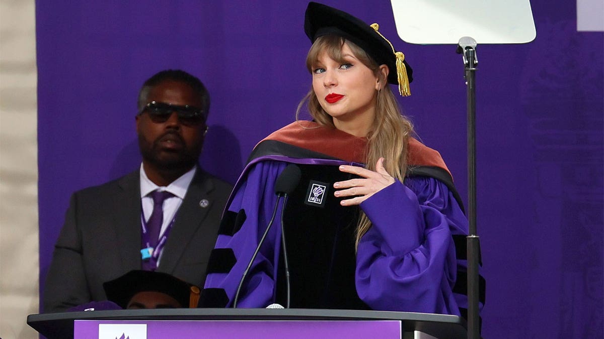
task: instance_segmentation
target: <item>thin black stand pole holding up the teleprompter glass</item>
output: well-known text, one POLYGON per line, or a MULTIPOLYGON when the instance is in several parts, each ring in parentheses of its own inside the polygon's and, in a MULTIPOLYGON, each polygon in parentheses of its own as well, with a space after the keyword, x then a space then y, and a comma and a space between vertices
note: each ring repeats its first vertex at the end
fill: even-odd
POLYGON ((469 235, 467 244, 467 337, 480 339, 478 316, 478 259, 480 238, 476 230, 476 87, 475 76, 478 60, 476 40, 471 37, 459 39, 457 52, 463 55, 464 78, 467 86, 467 220, 469 235))

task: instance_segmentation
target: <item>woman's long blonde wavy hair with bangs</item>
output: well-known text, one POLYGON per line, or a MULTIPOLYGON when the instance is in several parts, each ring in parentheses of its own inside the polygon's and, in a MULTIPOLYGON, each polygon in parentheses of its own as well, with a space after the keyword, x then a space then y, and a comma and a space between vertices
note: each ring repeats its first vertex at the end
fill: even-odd
MULTIPOLYGON (((313 65, 318 63, 318 59, 323 52, 327 53, 331 59, 337 62, 346 63, 342 56, 342 46, 344 43, 349 46, 353 54, 363 65, 373 71, 376 77, 379 77, 379 66, 373 59, 361 49, 343 37, 339 36, 321 36, 315 40, 310 47, 306 57, 306 68, 312 73, 313 65)), ((393 71, 393 70, 390 70, 393 71)), ((394 70, 396 72, 396 70, 394 70)), ((387 79, 384 79, 384 83, 387 79)), ((325 112, 318 101, 315 92, 310 89, 303 100, 298 104, 296 119, 300 110, 306 104, 310 116, 320 125, 334 127, 333 118, 325 112)), ((367 149, 365 150, 365 168, 371 171, 376 170, 376 163, 380 157, 384 157, 384 168, 392 177, 403 182, 407 170, 407 152, 409 138, 413 135, 413 125, 411 121, 400 112, 396 98, 390 87, 384 85, 382 89, 377 90, 376 98, 376 116, 373 124, 367 134, 367 149)), ((363 211, 359 215, 359 221, 356 228, 356 244, 371 227, 371 221, 363 211)))

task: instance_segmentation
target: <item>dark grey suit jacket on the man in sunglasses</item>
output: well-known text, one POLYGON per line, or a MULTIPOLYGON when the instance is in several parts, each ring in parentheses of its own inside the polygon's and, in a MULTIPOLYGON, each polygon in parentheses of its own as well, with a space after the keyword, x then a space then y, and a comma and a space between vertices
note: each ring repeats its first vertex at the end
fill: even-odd
MULTIPOLYGON (((162 252, 158 271, 203 287, 232 186, 198 168, 162 252), (205 208, 200 201, 209 201, 205 208)), ((60 312, 106 300, 103 282, 141 269, 139 170, 71 196, 55 245, 43 304, 60 312)))

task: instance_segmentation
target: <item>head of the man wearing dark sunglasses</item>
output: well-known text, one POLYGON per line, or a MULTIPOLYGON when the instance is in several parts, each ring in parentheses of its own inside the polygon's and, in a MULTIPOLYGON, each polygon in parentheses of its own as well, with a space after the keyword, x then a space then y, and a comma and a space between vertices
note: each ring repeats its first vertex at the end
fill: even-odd
POLYGON ((180 70, 150 77, 138 95, 138 145, 149 179, 167 186, 199 160, 210 95, 204 84, 180 70))

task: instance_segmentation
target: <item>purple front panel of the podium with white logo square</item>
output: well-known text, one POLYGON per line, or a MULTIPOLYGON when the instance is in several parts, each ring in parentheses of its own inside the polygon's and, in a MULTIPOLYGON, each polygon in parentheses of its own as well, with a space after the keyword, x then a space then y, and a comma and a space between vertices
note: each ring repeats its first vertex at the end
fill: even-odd
POLYGON ((254 321, 254 320, 76 320, 75 339, 400 339, 399 320, 254 321))

